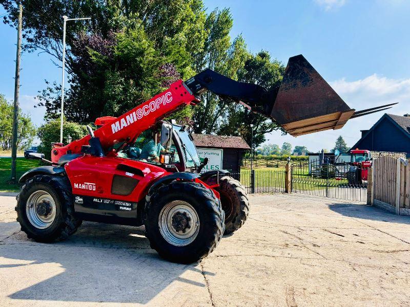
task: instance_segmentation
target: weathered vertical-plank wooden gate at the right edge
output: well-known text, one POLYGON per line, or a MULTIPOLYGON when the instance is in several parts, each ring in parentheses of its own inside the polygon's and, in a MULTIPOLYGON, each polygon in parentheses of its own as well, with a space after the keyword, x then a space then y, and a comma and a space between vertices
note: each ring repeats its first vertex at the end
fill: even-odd
POLYGON ((408 160, 385 156, 373 160, 369 203, 394 212, 410 215, 410 165, 408 160))

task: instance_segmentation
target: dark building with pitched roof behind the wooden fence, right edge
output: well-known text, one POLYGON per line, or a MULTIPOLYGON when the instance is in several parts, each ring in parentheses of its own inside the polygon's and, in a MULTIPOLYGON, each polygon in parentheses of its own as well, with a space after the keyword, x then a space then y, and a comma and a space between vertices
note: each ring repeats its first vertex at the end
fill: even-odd
POLYGON ((384 114, 369 130, 362 130, 361 139, 352 149, 406 152, 410 157, 410 115, 384 114))

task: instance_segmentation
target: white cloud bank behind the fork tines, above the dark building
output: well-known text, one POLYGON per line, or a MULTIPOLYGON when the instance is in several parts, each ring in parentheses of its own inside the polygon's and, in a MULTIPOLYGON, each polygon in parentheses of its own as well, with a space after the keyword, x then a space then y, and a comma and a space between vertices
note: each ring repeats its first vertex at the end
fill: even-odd
POLYGON ((330 84, 340 97, 357 111, 382 104, 394 102, 399 104, 386 111, 349 120, 342 129, 326 130, 297 138, 272 133, 266 135, 268 142, 279 145, 289 142, 293 146, 305 145, 310 150, 316 151, 321 148, 331 149, 336 138, 341 135, 348 146, 353 146, 360 139, 360 130, 371 128, 384 113, 396 115, 410 113, 410 79, 389 79, 374 74, 361 80, 340 79, 330 84))

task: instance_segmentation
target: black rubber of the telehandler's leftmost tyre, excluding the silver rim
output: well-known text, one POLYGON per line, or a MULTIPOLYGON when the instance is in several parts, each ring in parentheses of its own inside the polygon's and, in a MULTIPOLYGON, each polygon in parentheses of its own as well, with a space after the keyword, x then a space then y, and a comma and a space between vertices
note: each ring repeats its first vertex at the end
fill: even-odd
POLYGON ((67 178, 60 176, 38 175, 26 181, 16 197, 17 222, 27 237, 37 242, 50 243, 64 240, 73 234, 82 221, 74 215, 71 186, 67 178), (49 193, 56 207, 54 221, 44 229, 36 228, 27 217, 26 204, 32 193, 43 190, 49 193))

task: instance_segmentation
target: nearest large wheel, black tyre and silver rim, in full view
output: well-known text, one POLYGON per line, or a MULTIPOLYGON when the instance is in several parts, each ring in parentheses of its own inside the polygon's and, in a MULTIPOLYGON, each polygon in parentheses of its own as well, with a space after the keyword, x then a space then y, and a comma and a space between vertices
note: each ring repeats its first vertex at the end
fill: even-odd
POLYGON ((190 264, 219 244, 224 212, 214 193, 194 182, 171 182, 147 195, 146 236, 167 260, 190 264))

